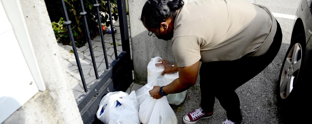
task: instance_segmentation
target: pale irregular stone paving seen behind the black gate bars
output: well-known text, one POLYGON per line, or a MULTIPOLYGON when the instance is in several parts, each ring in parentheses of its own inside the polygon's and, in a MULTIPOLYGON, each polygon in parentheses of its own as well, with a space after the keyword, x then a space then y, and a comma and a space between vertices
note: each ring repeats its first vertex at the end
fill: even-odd
MULTIPOLYGON (((129 17, 128 17, 129 20, 129 17)), ((122 51, 122 43, 120 39, 120 30, 119 30, 119 22, 118 20, 114 22, 114 27, 117 30, 117 33, 115 33, 115 41, 116 44, 119 45, 116 46, 117 48, 117 55, 119 55, 122 51)), ((130 24, 128 21, 128 31, 129 31, 129 41, 130 41, 130 51, 131 51, 131 36, 130 36, 130 24)), ((111 34, 105 34, 104 35, 104 41, 105 41, 105 48, 106 48, 106 54, 109 65, 115 60, 115 53, 114 53, 114 46, 113 46, 113 40, 111 34)), ((104 54, 103 54, 103 47, 100 36, 95 37, 92 42, 92 48, 94 53, 94 58, 96 61, 96 66, 98 69, 98 74, 100 75, 103 70, 106 69, 105 60, 104 60, 104 54)), ((67 73, 68 80, 70 81, 71 88, 73 90, 74 96, 77 99, 82 93, 84 93, 83 85, 81 82, 77 62, 75 59, 75 55, 71 52, 73 48, 69 45, 62 45, 61 43, 58 43, 59 50, 61 53, 61 59, 62 63, 64 65, 65 71, 67 73)), ((93 81, 95 81, 95 73, 92 65, 92 59, 90 56, 90 50, 88 43, 85 44, 85 46, 77 48, 81 68, 85 77, 85 82, 87 86, 89 86, 93 81)), ((132 58, 132 52, 131 58, 132 58)), ((133 76, 134 78, 134 76, 133 76)), ((142 85, 137 85, 132 83, 131 86, 128 88, 127 92, 130 93, 130 91, 137 90, 142 85)))

